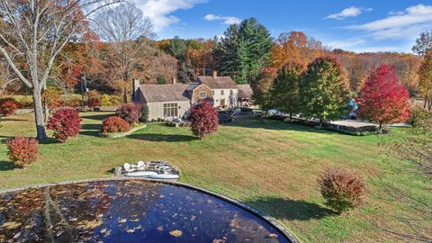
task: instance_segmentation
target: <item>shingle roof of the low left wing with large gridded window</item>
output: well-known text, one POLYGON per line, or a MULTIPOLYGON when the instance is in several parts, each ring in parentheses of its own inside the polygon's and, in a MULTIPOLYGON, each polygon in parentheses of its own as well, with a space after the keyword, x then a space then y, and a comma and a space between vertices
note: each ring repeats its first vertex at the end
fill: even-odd
POLYGON ((139 85, 146 102, 172 102, 191 100, 190 85, 139 85))

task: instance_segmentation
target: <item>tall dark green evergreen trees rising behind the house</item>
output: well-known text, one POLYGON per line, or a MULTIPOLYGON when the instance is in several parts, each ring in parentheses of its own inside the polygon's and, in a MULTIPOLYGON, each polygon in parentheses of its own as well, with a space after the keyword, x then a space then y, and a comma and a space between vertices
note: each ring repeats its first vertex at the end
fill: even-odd
POLYGON ((220 73, 234 77, 240 84, 256 80, 259 70, 269 61, 271 45, 270 33, 256 19, 231 24, 215 51, 220 73))

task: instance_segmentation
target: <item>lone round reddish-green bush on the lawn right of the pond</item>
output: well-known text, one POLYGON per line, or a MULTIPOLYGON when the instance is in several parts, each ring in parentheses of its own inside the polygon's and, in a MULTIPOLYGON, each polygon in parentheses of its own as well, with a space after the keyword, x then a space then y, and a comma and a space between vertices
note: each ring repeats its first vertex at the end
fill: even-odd
POLYGON ((327 169, 318 184, 326 205, 339 213, 354 209, 365 197, 364 179, 344 169, 327 169))

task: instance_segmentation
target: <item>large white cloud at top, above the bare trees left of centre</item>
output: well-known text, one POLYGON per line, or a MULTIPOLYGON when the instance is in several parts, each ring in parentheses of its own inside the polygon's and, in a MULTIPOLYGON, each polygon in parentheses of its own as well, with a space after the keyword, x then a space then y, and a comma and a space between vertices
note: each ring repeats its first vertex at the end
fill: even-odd
POLYGON ((154 24, 155 31, 161 31, 180 19, 172 13, 179 9, 190 9, 195 4, 205 3, 206 0, 134 0, 145 16, 154 24))

